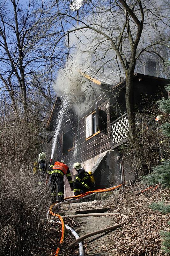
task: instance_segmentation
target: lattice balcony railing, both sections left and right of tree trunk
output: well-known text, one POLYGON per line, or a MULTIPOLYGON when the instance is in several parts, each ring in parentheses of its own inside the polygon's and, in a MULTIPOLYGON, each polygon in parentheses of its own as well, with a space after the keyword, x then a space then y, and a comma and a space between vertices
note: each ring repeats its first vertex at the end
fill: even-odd
MULTIPOLYGON (((154 129, 156 127, 156 121, 153 116, 139 116, 136 115, 136 125, 142 124, 143 127, 146 127, 146 129, 154 129)), ((122 118, 119 118, 115 120, 113 123, 111 123, 111 136, 112 146, 114 144, 119 143, 123 139, 127 138, 127 133, 129 131, 129 123, 128 123, 128 116, 125 114, 122 116, 122 118)))

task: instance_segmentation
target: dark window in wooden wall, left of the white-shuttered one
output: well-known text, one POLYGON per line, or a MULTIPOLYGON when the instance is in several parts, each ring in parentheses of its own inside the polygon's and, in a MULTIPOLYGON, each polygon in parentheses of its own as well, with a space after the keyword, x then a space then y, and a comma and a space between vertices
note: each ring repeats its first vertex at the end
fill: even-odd
POLYGON ((62 136, 62 153, 67 153, 74 148, 74 132, 70 129, 68 132, 63 133, 62 136))

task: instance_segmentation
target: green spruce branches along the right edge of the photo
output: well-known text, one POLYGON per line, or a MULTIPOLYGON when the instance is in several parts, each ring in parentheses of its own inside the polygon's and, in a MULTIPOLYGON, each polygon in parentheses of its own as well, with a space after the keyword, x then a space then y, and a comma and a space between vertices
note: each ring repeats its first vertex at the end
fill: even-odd
MULTIPOLYGON (((170 85, 166 86, 165 89, 167 92, 170 92, 170 85)), ((163 113, 167 113, 170 116, 170 96, 168 93, 168 99, 163 98, 158 101, 159 109, 163 113)), ((160 126, 162 133, 170 138, 170 123, 164 123, 160 126)), ((170 188, 170 159, 166 159, 162 162, 161 165, 155 166, 153 172, 147 176, 143 176, 142 180, 148 184, 158 184, 160 183, 162 187, 169 189, 170 188)), ((170 212, 170 204, 165 205, 163 202, 152 203, 149 205, 152 210, 157 210, 162 213, 170 212)), ((168 222, 170 225, 170 221, 168 222)), ((160 231, 160 235, 163 237, 162 250, 168 255, 170 254, 170 232, 160 231)))

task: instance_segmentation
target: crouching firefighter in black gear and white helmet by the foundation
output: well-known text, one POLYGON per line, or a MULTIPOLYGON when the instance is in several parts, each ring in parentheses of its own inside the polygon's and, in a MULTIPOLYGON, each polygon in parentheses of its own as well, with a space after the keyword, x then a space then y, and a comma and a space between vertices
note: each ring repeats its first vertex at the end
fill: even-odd
POLYGON ((73 181, 73 192, 75 196, 90 191, 91 181, 88 173, 82 168, 80 163, 73 164, 73 167, 78 172, 76 179, 73 181))

